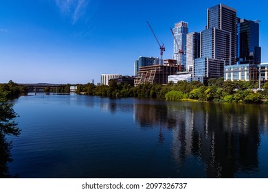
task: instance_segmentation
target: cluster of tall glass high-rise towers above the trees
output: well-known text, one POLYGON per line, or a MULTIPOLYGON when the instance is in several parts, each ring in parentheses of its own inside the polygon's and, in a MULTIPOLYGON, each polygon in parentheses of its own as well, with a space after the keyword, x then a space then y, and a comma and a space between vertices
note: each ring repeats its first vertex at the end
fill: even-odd
POLYGON ((259 21, 240 19, 222 3, 207 9, 207 25, 200 33, 188 33, 186 21, 175 23, 172 31, 177 39, 172 57, 193 77, 223 77, 225 66, 261 62, 259 21))

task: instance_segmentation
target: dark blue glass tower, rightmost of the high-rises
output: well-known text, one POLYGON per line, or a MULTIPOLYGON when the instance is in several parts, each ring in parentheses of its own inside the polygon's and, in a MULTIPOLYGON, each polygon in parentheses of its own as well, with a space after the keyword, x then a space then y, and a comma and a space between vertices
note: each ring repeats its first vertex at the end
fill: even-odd
POLYGON ((259 22, 238 19, 237 58, 238 64, 260 64, 259 22))

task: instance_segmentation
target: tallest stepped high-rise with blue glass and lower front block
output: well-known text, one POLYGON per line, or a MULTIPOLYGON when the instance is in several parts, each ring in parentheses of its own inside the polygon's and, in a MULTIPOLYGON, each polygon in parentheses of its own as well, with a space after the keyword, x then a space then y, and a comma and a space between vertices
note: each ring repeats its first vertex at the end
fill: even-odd
POLYGON ((200 34, 200 57, 194 77, 223 77, 225 65, 236 64, 236 10, 219 4, 207 10, 207 27, 200 34))

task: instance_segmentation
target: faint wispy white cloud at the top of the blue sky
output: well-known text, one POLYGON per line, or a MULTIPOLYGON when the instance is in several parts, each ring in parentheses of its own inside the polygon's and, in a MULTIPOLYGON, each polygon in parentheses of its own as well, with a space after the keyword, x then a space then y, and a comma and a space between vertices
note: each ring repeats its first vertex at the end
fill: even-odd
POLYGON ((85 14, 89 0, 55 0, 60 12, 65 16, 70 16, 72 23, 85 14))

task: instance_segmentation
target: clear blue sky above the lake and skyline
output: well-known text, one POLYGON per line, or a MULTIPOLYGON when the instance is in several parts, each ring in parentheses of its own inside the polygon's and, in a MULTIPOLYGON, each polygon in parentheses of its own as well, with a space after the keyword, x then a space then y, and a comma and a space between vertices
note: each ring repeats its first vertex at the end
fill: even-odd
POLYGON ((201 32, 206 10, 223 3, 237 16, 259 19, 262 62, 268 62, 267 1, 263 0, 3 0, 0 83, 100 82, 102 73, 133 75, 139 56, 159 56, 149 21, 172 58, 169 27, 188 22, 201 32))

